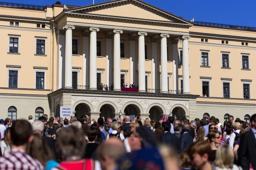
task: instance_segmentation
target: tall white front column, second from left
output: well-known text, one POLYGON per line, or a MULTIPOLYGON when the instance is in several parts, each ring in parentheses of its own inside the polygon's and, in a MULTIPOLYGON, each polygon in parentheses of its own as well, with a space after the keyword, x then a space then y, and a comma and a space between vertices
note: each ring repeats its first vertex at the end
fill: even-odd
POLYGON ((90 28, 90 90, 97 90, 97 31, 90 28))

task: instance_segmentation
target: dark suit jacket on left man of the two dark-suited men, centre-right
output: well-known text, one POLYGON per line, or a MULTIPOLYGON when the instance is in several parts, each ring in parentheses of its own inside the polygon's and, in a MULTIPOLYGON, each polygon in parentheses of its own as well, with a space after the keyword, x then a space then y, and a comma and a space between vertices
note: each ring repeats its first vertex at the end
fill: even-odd
POLYGON ((172 134, 170 132, 166 132, 165 134, 163 134, 161 136, 160 144, 168 144, 173 149, 175 149, 177 153, 179 151, 178 150, 179 149, 179 139, 177 136, 175 136, 174 134, 172 134))

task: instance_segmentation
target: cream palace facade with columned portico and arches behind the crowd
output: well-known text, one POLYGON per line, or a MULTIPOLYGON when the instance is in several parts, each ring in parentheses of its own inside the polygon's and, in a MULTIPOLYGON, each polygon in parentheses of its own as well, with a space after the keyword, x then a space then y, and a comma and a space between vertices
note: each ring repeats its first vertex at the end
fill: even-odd
POLYGON ((0 9, 2 118, 57 117, 61 106, 92 119, 255 113, 256 28, 188 21, 141 0, 0 9))

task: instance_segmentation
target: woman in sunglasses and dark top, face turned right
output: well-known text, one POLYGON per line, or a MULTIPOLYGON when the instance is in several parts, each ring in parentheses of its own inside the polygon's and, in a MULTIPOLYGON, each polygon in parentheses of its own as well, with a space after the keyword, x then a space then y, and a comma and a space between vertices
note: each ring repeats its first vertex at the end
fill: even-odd
POLYGON ((221 135, 217 130, 214 130, 214 131, 209 131, 207 137, 208 137, 208 141, 211 146, 211 149, 212 149, 212 156, 209 160, 211 162, 214 162, 216 150, 218 149, 216 146, 218 146, 221 142, 221 135))

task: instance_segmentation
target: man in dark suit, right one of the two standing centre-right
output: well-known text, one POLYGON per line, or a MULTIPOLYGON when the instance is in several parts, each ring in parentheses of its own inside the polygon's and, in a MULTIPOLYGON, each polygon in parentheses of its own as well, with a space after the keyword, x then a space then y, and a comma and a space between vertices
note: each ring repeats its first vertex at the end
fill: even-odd
POLYGON ((183 126, 183 135, 180 136, 180 152, 183 150, 187 150, 190 144, 193 143, 193 138, 189 134, 190 126, 189 124, 185 124, 183 126))

